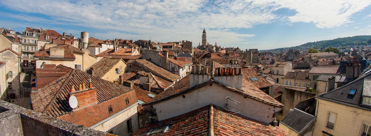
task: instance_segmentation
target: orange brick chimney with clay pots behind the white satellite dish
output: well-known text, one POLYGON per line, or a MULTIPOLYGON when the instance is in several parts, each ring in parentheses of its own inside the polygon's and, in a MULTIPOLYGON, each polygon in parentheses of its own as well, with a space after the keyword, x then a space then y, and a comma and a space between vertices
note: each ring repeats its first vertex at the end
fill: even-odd
POLYGON ((96 95, 97 89, 95 87, 86 88, 85 83, 82 83, 82 84, 79 84, 79 91, 74 91, 74 90, 75 89, 73 85, 71 85, 71 89, 68 92, 68 98, 72 95, 76 97, 77 102, 78 102, 77 108, 81 108, 84 106, 98 103, 98 99, 96 95))

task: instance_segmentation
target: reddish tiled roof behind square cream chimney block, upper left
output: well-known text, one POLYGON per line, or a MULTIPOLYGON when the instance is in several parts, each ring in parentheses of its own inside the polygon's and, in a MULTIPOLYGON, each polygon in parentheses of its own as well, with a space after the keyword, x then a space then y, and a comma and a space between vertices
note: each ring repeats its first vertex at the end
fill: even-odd
MULTIPOLYGON (((79 54, 84 53, 80 49, 78 49, 78 48, 76 48, 72 45, 69 45, 69 44, 59 44, 59 45, 56 45, 54 47, 65 49, 64 58, 75 58, 74 53, 79 53, 79 54)), ((35 52, 34 57, 48 57, 49 58, 50 57, 50 48, 35 52)))

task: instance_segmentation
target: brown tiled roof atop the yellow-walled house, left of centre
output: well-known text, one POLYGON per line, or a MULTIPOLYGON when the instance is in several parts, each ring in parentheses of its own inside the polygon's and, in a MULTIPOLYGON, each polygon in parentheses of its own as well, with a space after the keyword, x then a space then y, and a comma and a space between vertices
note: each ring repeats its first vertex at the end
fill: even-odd
POLYGON ((109 70, 111 70, 120 61, 122 61, 121 58, 102 58, 100 61, 92 65, 91 68, 93 68, 95 76, 102 78, 109 70))

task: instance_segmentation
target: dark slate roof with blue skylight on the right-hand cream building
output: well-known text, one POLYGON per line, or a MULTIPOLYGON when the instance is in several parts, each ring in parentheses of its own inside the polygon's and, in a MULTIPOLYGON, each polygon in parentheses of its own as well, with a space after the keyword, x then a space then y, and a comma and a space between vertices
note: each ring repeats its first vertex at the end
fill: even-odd
POLYGON ((342 103, 348 103, 355 106, 363 106, 362 104, 362 92, 364 89, 364 81, 371 80, 371 72, 365 75, 359 76, 355 81, 352 81, 344 86, 334 89, 333 91, 322 93, 317 95, 316 98, 325 98, 333 101, 338 101, 342 103), (348 95, 351 89, 356 89, 354 95, 348 95))

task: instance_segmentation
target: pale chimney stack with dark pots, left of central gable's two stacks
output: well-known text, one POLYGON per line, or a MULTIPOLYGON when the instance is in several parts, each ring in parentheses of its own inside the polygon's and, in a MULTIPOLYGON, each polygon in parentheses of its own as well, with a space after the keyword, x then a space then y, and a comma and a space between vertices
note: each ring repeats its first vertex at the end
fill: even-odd
POLYGON ((207 72, 208 67, 203 65, 191 65, 190 88, 210 80, 210 74, 207 72))

